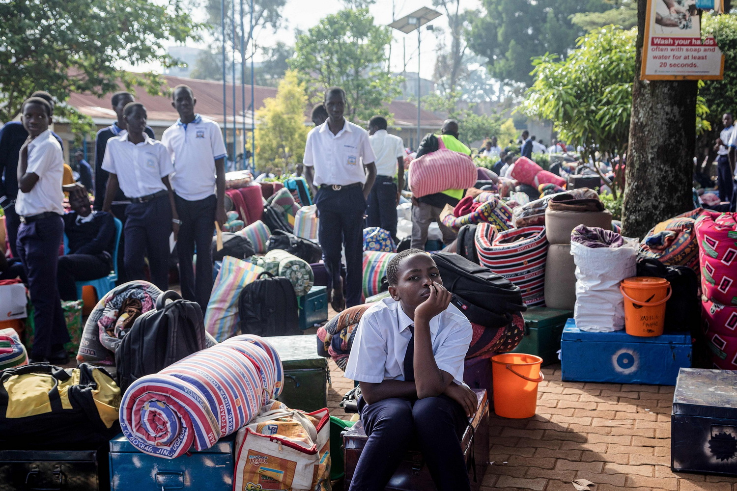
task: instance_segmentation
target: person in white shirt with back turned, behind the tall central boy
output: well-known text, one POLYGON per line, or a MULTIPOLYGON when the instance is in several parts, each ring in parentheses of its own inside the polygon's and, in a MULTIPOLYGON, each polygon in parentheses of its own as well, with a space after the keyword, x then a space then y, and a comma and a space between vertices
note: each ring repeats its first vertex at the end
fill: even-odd
POLYGON ((402 138, 386 131, 382 116, 368 121, 368 141, 376 156, 376 180, 368 194, 369 227, 381 227, 397 242, 399 191, 405 187, 405 144, 402 138), (394 178, 397 183, 394 183, 394 178))

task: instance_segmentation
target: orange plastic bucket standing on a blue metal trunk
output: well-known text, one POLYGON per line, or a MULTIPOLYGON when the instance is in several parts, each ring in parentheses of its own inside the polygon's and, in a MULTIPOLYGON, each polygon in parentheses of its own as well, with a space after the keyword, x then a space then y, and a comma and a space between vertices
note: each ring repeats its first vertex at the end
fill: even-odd
POLYGON ((624 329, 630 336, 652 337, 663 334, 666 302, 671 283, 664 278, 633 276, 619 284, 624 297, 624 329))

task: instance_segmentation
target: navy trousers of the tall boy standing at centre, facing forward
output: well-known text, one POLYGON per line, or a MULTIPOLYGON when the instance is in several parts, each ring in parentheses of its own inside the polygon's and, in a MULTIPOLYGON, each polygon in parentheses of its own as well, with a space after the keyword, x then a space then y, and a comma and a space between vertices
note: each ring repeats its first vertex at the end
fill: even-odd
POLYGON ((318 207, 318 239, 325 269, 332 286, 340 285, 340 261, 346 247, 346 307, 360 305, 363 284, 363 215, 366 199, 361 186, 335 191, 321 187, 315 197, 318 207))

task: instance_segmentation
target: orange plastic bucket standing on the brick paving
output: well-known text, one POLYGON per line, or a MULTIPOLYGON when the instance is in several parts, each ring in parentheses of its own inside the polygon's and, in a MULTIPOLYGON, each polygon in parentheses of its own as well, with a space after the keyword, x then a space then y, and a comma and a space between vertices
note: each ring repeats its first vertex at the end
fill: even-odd
POLYGON ((497 416, 522 419, 537 409, 537 384, 544 380, 542 358, 524 353, 492 356, 494 412, 497 416))

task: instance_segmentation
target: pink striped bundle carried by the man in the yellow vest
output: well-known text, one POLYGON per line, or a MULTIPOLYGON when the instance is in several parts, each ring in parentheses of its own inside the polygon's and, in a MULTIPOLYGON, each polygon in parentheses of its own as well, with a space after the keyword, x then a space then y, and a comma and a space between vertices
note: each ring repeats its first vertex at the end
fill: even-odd
POLYGON ((435 152, 412 160, 409 170, 410 191, 419 198, 447 189, 466 189, 476 183, 476 166, 468 155, 445 148, 438 138, 435 152))

